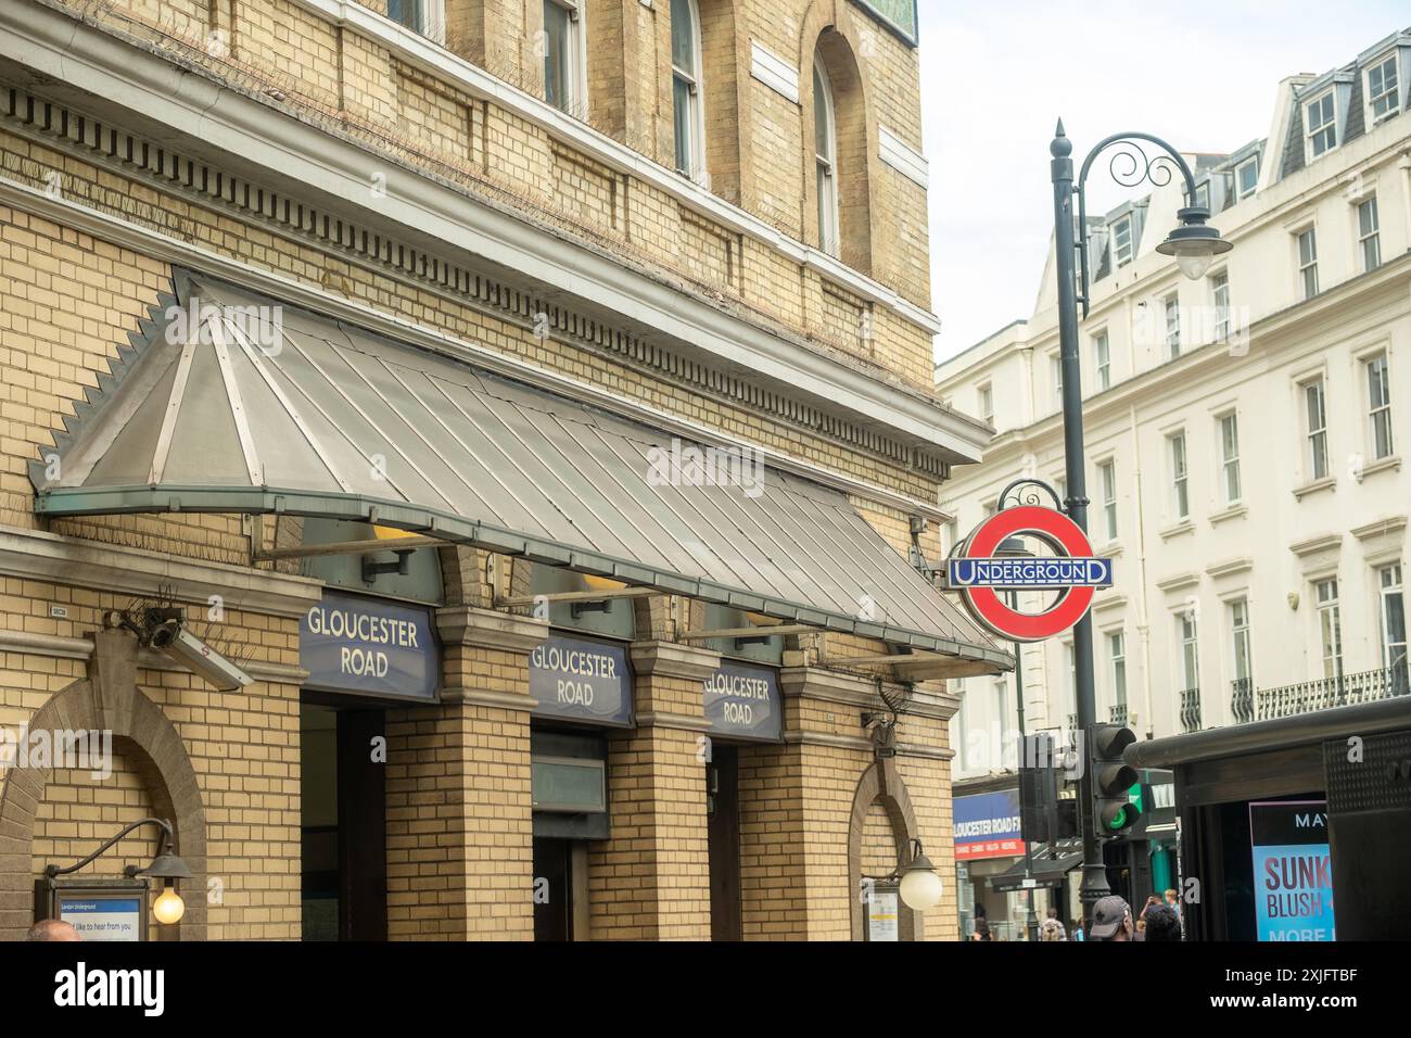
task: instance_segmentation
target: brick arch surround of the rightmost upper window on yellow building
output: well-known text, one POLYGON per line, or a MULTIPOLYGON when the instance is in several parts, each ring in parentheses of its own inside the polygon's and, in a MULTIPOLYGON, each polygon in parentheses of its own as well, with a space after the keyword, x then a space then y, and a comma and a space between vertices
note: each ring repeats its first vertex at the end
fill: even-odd
POLYGON ((803 18, 799 42, 799 114, 803 141, 803 233, 818 244, 818 188, 814 175, 816 133, 813 62, 818 56, 832 89, 837 126, 838 258, 864 274, 872 273, 872 185, 878 169, 878 129, 862 38, 845 4, 817 0, 803 18))

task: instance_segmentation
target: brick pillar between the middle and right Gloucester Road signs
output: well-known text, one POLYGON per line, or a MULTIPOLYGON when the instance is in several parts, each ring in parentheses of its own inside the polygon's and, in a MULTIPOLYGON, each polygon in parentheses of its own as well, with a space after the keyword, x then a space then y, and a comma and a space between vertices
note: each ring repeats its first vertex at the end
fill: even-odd
POLYGON ((632 645, 636 730, 610 741, 612 837, 588 852, 594 939, 710 941, 701 682, 718 664, 703 648, 632 645))

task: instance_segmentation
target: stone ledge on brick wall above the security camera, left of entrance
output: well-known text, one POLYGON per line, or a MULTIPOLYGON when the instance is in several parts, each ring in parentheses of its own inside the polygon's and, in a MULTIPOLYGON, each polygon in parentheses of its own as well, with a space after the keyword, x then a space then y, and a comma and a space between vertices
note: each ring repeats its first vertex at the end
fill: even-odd
POLYGON ((219 595, 226 609, 284 617, 303 616, 323 596, 317 580, 302 576, 10 525, 0 525, 0 576, 131 596, 155 596, 166 589, 178 602, 202 606, 219 595))

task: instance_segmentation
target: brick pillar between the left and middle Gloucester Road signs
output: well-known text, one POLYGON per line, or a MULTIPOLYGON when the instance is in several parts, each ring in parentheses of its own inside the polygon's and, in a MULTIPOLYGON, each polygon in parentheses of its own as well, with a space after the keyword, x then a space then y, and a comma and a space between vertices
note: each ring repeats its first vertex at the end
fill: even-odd
POLYGON ((442 702, 388 717, 388 936, 533 939, 529 652, 538 620, 439 610, 442 702))

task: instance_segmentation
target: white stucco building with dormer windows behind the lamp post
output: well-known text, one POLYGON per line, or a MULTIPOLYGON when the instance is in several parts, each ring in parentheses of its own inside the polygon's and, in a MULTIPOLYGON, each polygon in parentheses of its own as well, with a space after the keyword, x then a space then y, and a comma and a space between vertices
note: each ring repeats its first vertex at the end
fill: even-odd
MULTIPOLYGON (((1263 140, 1189 155, 1235 246, 1199 281, 1154 251, 1180 177, 1089 217, 1088 515, 1116 561, 1092 613, 1098 715, 1141 739, 1405 692, 1408 83, 1400 32, 1280 83, 1263 140)), ((945 486, 947 549, 1020 475, 1064 491, 1051 254, 1033 315, 937 387, 996 434, 945 486)), ((1023 650, 1030 730, 1071 724, 1071 652, 1023 650)), ((1015 675, 964 684, 957 780, 1013 768, 1015 675)))

